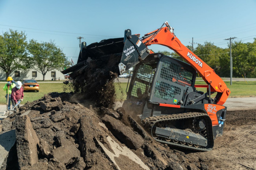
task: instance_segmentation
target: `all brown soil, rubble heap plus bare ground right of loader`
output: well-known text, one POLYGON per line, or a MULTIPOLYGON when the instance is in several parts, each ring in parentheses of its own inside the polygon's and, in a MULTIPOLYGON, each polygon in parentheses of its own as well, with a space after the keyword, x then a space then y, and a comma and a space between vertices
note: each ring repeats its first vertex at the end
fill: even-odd
POLYGON ((17 158, 9 156, 1 169, 256 169, 255 110, 228 111, 213 150, 194 152, 155 142, 122 108, 96 113, 67 102, 69 96, 45 95, 2 120, 5 131, 16 128, 10 154, 17 158))

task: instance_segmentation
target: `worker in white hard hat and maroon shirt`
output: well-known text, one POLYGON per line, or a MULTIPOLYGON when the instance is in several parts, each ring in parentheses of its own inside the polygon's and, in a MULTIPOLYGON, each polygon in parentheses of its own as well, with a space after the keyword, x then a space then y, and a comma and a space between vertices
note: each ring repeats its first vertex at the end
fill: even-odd
MULTIPOLYGON (((22 102, 23 101, 23 87, 22 87, 22 83, 20 81, 16 82, 16 87, 14 87, 12 89, 12 102, 17 105, 18 108, 20 108, 20 103, 18 103, 19 101, 22 102)), ((16 108, 17 108, 16 107, 16 108)), ((14 109, 16 111, 16 108, 14 109)))

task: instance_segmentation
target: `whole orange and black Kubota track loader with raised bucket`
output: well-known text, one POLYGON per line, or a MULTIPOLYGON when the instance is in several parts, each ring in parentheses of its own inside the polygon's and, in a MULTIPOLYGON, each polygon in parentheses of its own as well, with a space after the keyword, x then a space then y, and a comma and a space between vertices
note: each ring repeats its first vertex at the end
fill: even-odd
MULTIPOLYGON (((125 111, 140 115, 153 138, 161 143, 186 149, 212 150, 214 139, 223 134, 227 108, 223 106, 230 90, 204 61, 184 46, 165 22, 161 28, 145 34, 103 40, 82 46, 80 62, 88 57, 120 57, 120 74, 134 67, 127 86, 125 111), (161 53, 149 45, 164 45, 186 62, 161 53), (122 57, 121 57, 122 56, 122 57), (206 85, 195 85, 197 73, 206 85), (198 91, 207 88, 207 92, 198 91), (211 95, 216 93, 212 99, 211 95)), ((83 65, 84 67, 84 65, 83 65)), ((71 68, 72 69, 72 68, 71 68)))

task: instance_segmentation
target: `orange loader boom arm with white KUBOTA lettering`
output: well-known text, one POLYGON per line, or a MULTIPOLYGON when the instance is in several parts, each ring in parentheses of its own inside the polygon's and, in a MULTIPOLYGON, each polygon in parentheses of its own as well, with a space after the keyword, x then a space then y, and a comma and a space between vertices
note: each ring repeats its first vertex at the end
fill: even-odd
MULTIPOLYGON (((132 37, 130 35, 130 37, 127 38, 131 39, 132 37)), ((223 105, 226 102, 227 97, 230 95, 230 90, 227 88, 227 85, 214 72, 214 70, 209 67, 209 65, 207 65, 202 59, 196 56, 192 51, 190 51, 185 45, 180 42, 180 40, 173 33, 173 28, 169 26, 167 21, 163 24, 161 28, 152 31, 151 33, 145 34, 145 36, 140 39, 140 41, 146 47, 152 44, 159 44, 164 45, 175 51, 180 57, 186 60, 186 62, 188 62, 198 72, 198 74, 200 74, 200 76, 208 85, 210 85, 211 92, 217 92, 218 97, 216 96, 216 104, 223 105)), ((135 44, 134 46, 137 47, 135 44)), ((153 53, 148 48, 137 51, 139 51, 139 54, 142 53, 141 51, 146 51, 148 54, 153 53)))

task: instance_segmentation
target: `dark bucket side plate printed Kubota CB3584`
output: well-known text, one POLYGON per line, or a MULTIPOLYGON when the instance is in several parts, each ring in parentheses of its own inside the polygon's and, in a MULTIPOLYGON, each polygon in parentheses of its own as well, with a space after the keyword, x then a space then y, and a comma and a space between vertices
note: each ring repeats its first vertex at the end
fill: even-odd
POLYGON ((124 49, 122 52, 121 62, 119 63, 120 74, 125 73, 134 65, 148 56, 150 51, 137 35, 131 35, 131 30, 125 30, 124 49))

